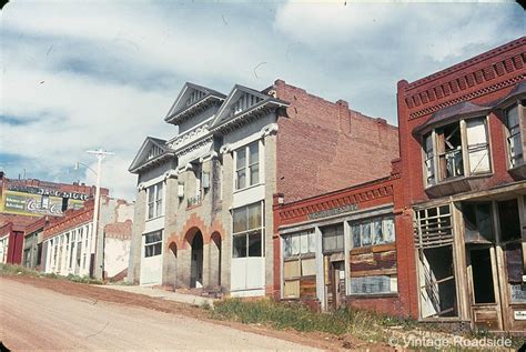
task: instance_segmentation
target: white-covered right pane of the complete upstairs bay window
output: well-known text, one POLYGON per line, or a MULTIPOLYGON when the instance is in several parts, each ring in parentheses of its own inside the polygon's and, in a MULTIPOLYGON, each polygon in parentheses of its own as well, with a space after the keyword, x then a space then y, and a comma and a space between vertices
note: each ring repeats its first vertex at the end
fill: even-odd
POLYGON ((486 121, 485 118, 466 120, 471 174, 489 171, 489 143, 487 142, 486 121))

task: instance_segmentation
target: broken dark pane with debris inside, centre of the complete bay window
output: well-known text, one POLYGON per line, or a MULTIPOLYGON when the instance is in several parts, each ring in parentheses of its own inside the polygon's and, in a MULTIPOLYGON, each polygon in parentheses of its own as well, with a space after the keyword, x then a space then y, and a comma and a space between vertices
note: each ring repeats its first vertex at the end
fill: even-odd
POLYGON ((438 172, 441 180, 464 175, 461 124, 436 129, 438 172))

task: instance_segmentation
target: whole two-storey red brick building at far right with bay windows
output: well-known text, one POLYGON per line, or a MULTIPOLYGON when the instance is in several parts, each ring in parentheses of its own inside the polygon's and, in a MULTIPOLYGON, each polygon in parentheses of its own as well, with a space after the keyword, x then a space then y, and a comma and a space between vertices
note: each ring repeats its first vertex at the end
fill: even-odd
POLYGON ((523 37, 398 82, 396 231, 422 321, 526 330, 525 61, 523 37))

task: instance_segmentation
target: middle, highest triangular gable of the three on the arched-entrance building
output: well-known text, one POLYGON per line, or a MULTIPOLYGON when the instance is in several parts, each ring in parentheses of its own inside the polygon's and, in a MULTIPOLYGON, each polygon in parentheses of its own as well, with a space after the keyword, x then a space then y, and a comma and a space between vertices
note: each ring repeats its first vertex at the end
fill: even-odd
POLYGON ((225 94, 216 90, 186 82, 164 121, 179 124, 209 108, 212 103, 221 103, 225 98, 225 94))

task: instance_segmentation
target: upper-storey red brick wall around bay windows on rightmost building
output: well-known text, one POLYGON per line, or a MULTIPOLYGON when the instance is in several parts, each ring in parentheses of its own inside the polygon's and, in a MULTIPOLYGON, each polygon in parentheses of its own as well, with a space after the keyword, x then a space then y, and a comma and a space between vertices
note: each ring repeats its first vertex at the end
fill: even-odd
MULTIPOLYGON (((508 94, 526 74, 526 37, 482 53, 413 83, 398 82, 398 128, 405 204, 428 199, 424 191, 422 147, 412 131, 434 112, 459 102, 485 105, 508 94)), ((513 182, 507 172, 503 122, 489 115, 490 152, 494 174, 481 189, 513 182)))

